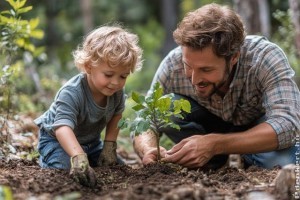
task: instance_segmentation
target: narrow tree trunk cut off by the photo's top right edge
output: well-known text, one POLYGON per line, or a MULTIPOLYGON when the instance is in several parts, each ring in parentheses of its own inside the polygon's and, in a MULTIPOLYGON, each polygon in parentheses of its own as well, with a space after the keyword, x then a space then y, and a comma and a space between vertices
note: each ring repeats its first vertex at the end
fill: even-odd
POLYGON ((299 0, 289 0, 290 9, 292 11, 292 23, 295 27, 295 44, 300 57, 300 2, 299 0))

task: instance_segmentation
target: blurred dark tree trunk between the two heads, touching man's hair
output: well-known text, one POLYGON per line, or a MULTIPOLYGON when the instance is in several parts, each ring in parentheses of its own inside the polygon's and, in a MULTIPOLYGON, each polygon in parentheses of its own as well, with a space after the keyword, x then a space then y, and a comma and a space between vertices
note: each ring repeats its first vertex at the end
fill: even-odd
POLYGON ((162 24, 166 34, 162 47, 162 56, 164 57, 171 49, 177 46, 173 39, 173 31, 177 25, 178 3, 176 0, 162 0, 161 5, 162 24))

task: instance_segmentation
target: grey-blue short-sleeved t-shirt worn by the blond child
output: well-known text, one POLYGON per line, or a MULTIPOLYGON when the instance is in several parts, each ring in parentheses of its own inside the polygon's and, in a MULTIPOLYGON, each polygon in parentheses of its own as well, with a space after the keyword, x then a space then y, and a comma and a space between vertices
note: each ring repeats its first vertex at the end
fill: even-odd
POLYGON ((120 90, 107 97, 106 107, 98 106, 81 73, 60 88, 50 108, 34 122, 53 136, 56 128, 69 126, 80 144, 89 144, 100 139, 111 118, 124 111, 124 104, 124 90, 120 90))

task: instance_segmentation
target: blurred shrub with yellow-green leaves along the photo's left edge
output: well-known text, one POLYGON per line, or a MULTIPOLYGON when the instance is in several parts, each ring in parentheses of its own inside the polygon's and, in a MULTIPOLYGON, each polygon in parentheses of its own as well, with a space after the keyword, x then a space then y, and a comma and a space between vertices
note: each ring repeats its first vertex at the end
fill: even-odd
POLYGON ((43 52, 42 48, 36 48, 32 39, 44 36, 38 28, 39 18, 23 18, 23 14, 32 9, 32 6, 25 6, 26 0, 7 2, 10 8, 0 12, 0 146, 5 141, 2 133, 7 134, 7 119, 20 108, 15 83, 25 71, 22 59, 25 55, 34 58, 43 52))

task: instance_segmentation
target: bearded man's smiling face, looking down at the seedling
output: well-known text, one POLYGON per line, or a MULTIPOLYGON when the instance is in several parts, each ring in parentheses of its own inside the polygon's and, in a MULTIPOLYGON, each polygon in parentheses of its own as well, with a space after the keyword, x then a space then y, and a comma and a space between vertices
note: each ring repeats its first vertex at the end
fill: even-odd
POLYGON ((218 91, 226 93, 224 85, 236 59, 226 63, 225 58, 216 56, 209 46, 202 50, 182 47, 182 61, 185 75, 199 97, 208 98, 218 91))

